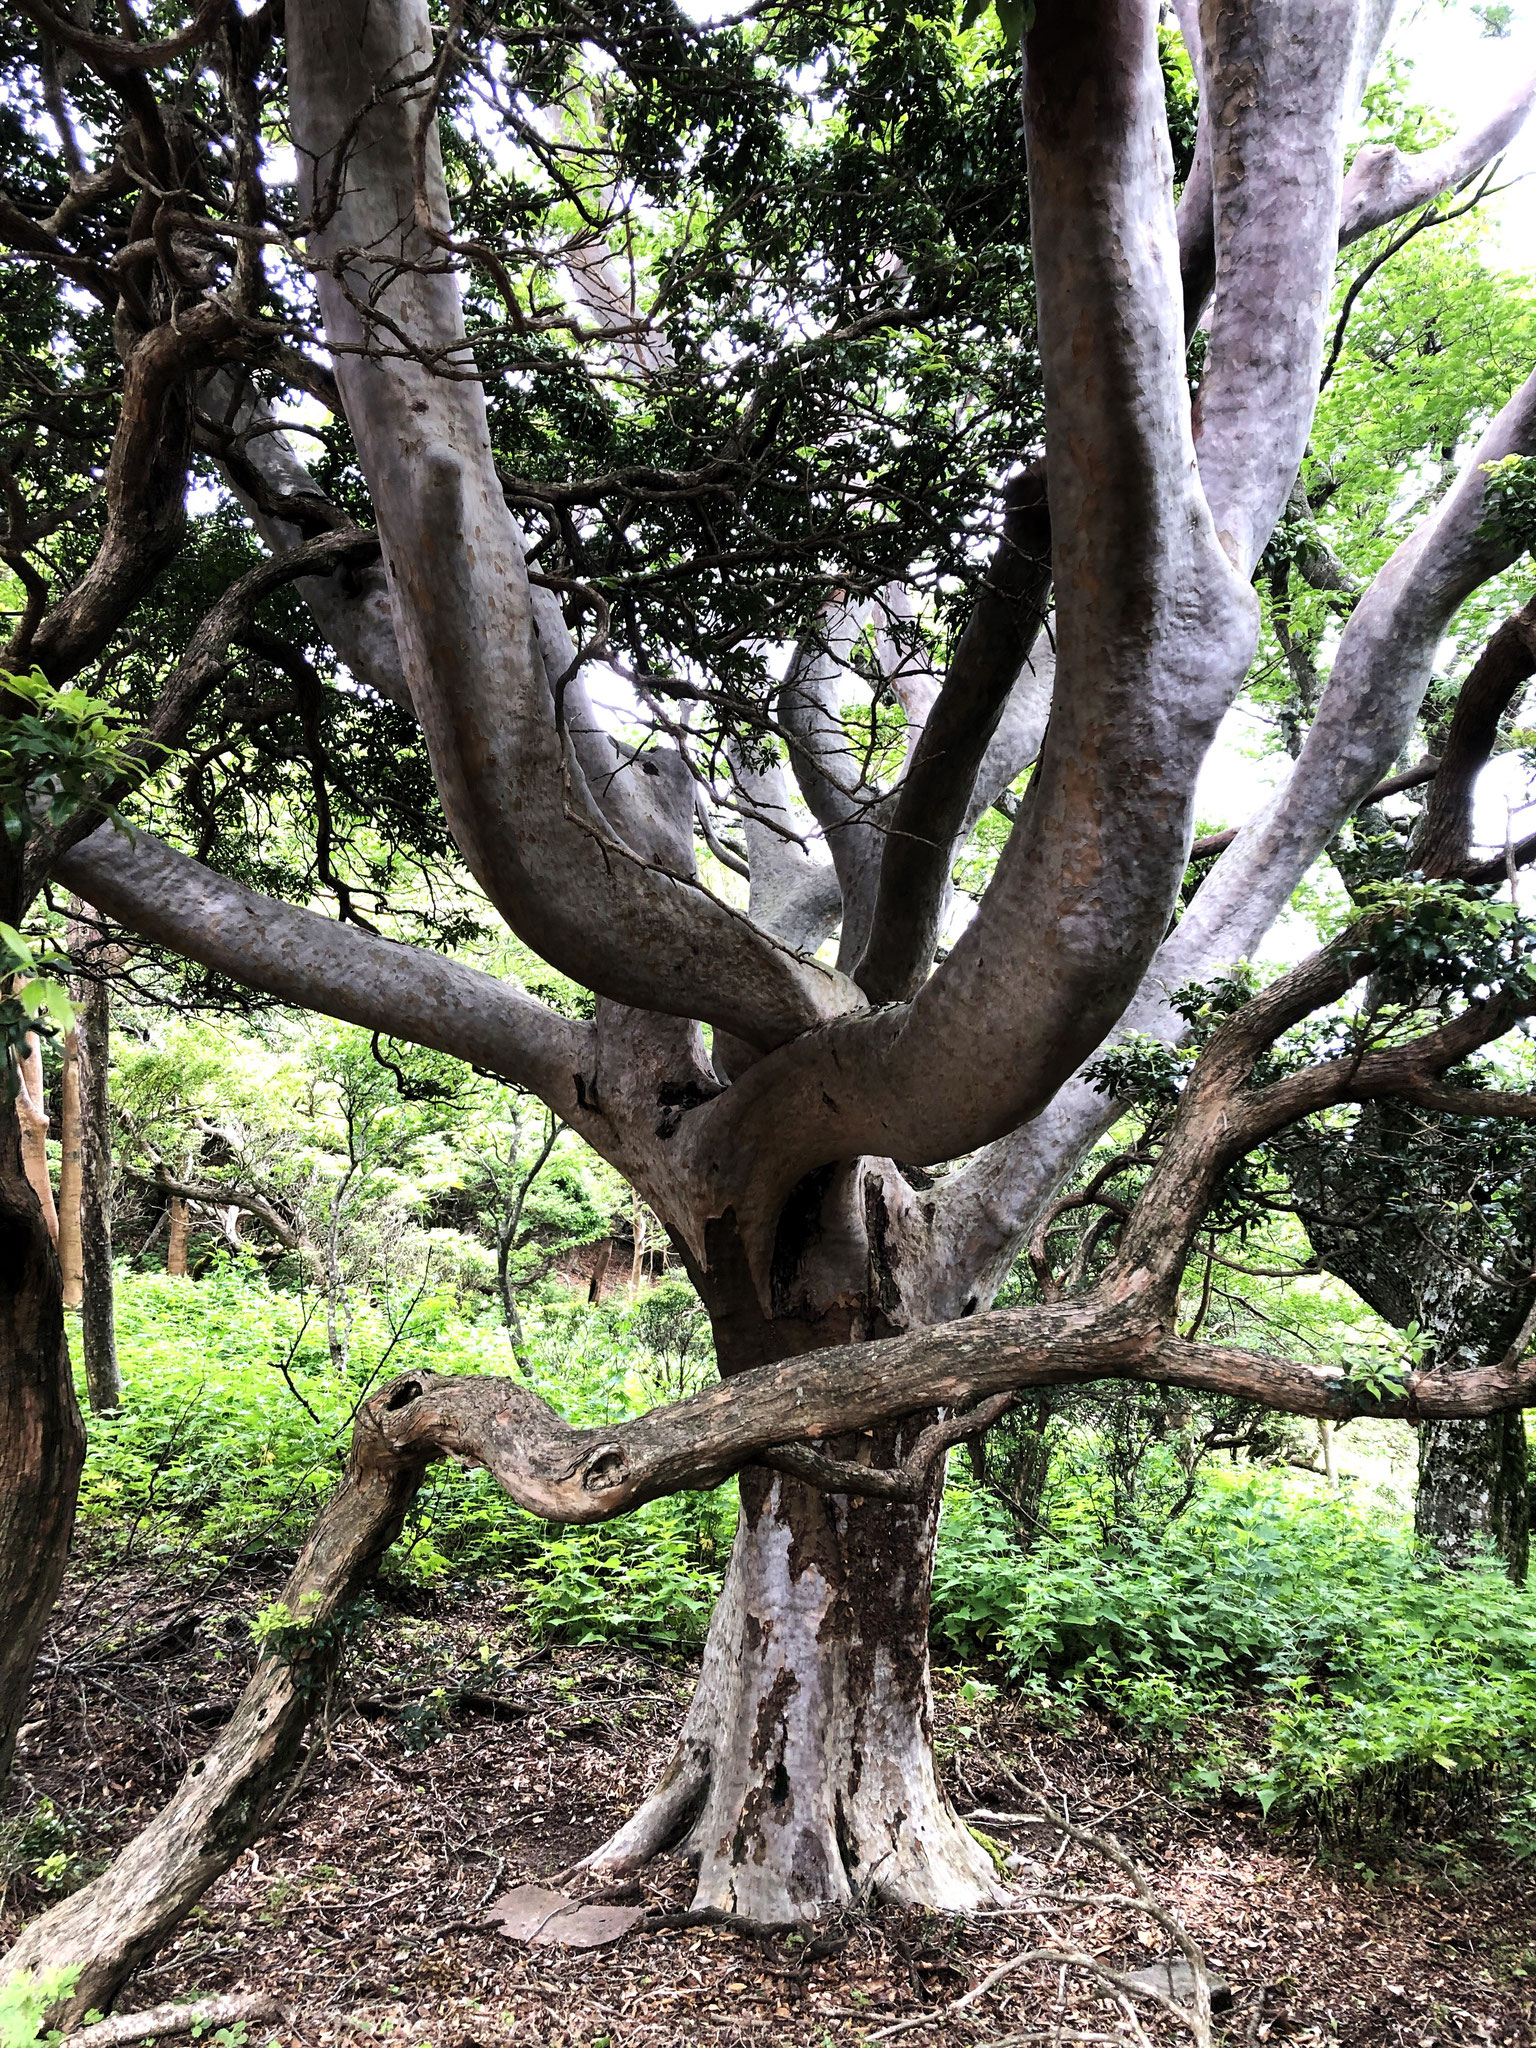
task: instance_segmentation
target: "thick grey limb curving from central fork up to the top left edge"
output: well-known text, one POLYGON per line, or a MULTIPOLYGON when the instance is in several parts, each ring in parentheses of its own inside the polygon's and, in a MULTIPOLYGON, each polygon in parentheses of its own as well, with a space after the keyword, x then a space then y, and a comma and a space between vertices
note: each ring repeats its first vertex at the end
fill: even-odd
POLYGON ((543 659, 457 281, 436 250, 449 207, 436 127, 420 125, 430 72, 422 0, 324 0, 289 18, 293 133, 324 219, 309 256, 449 825, 512 928, 584 985, 702 1016, 750 1044, 782 1042, 862 999, 621 842, 565 737, 575 672, 549 674, 543 659), (416 225, 418 199, 432 233, 416 225), (401 342, 457 375, 434 375, 401 342))

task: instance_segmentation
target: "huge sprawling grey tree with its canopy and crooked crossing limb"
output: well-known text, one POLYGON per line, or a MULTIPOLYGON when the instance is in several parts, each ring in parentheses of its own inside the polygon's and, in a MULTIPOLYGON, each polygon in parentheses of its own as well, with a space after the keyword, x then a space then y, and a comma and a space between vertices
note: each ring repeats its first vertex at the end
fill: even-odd
MULTIPOLYGON (((1397 958, 1417 899, 1241 1008, 1094 1284, 983 1313, 1118 1114, 1083 1065, 1116 1030, 1182 1036, 1169 991, 1255 948, 1411 739, 1448 623, 1530 541, 1511 485, 1536 455, 1536 379, 1479 422, 1360 594, 1286 786, 1174 922, 1196 774, 1249 674, 1253 578, 1307 451, 1337 250, 1464 184, 1532 98, 1419 156, 1360 150, 1346 174, 1386 12, 1188 10, 1192 129, 1151 4, 1040 4, 1020 141, 993 29, 967 41, 901 10, 700 29, 506 8, 436 37, 416 0, 324 0, 287 10, 283 100, 266 12, 127 45, 27 0, 74 156, 63 190, 27 160, 6 231, 94 295, 72 313, 82 356, 104 362, 111 317, 125 367, 106 373, 102 512, 88 539, 84 512, 55 528, 57 588, 12 516, 12 662, 57 688, 154 578, 168 614, 217 578, 217 537, 184 545, 193 449, 272 553, 225 553, 166 672, 131 672, 147 739, 193 762, 168 829, 190 823, 201 858, 41 805, 14 903, 55 874, 264 995, 537 1094, 664 1221, 723 1378, 600 1438, 516 1382, 412 1376, 367 1403, 285 1595, 287 1657, 14 1964, 88 1956, 78 1999, 100 2003, 227 1866, 299 1741, 328 1620, 444 1450, 555 1520, 741 1473, 678 1755, 592 1864, 686 1845, 702 1905, 780 1919, 864 1884, 948 1909, 993 1894, 934 1769, 926 1620, 936 1452, 1014 1389, 1151 1380, 1323 1417, 1530 1397, 1522 1360, 1368 1386, 1169 1327, 1223 1176, 1276 1130, 1376 1096, 1528 1112, 1444 1079, 1528 1014, 1524 926, 1479 922, 1481 897, 1456 911, 1481 979, 1438 1020, 1415 999, 1382 1032, 1368 1012, 1335 1055, 1264 1067, 1397 958), (827 109, 799 98, 811 72, 827 109), (291 197, 260 174, 283 106, 291 197), (332 408, 319 475, 272 410, 295 389, 332 408), (555 434, 586 467, 549 473, 555 434), (508 442, 524 469, 498 463, 508 442), (377 539, 352 524, 365 508, 377 539), (86 559, 63 588, 70 549, 86 559), (338 684, 256 625, 295 598, 311 623, 285 612, 289 633, 330 645, 338 684), (791 639, 774 682, 764 647, 791 639), (244 655, 281 678, 270 702, 221 698, 244 655), (633 713, 594 707, 600 664, 633 713), (242 776, 258 809, 313 776, 305 883, 338 920, 270 895, 262 834, 217 821, 209 707, 295 735, 242 776), (371 758, 379 836, 430 838, 426 760, 483 901, 592 991, 590 1018, 360 922, 395 872, 358 821, 371 758), (1012 829, 956 928, 956 854, 999 801, 1012 829)), ((53 334, 49 309, 31 317, 53 334)), ((88 432, 63 414, 53 387, 31 432, 88 432)), ((133 768, 90 791, 125 805, 133 768)))

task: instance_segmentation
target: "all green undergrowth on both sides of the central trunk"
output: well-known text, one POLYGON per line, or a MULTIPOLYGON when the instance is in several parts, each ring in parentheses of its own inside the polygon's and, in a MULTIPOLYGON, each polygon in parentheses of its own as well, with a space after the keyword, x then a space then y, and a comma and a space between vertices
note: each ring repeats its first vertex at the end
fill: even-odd
MULTIPOLYGON (((100 1571, 287 1556, 371 1386, 510 1370, 500 1325, 449 1292, 401 1335, 360 1315, 346 1374, 313 1303, 238 1270, 127 1274, 119 1315, 129 1405, 92 1421, 82 1489, 100 1571)), ((526 1325, 528 1380, 571 1421, 664 1395, 633 1311, 553 1298, 526 1325)), ((1491 1563, 1448 1573, 1401 1513, 1278 1473, 1217 1470, 1157 1532, 1106 1536, 1096 1505, 1065 1473, 1022 1550, 989 1495, 952 1485, 936 1655, 1057 1718, 1110 1714, 1184 1796, 1235 1794, 1339 1839, 1495 1825, 1536 1847, 1536 1595, 1491 1563)), ((727 1487, 559 1530, 444 1462, 385 1579, 446 1597, 498 1581, 535 1636, 688 1653, 733 1528, 727 1487)))

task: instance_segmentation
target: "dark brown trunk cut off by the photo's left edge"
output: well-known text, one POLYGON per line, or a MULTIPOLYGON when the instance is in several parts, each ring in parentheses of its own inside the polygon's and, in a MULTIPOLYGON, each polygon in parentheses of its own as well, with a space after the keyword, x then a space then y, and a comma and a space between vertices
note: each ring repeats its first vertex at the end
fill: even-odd
POLYGON ((0 1786, 63 1579, 86 1454, 53 1235, 0 1090, 0 1786))

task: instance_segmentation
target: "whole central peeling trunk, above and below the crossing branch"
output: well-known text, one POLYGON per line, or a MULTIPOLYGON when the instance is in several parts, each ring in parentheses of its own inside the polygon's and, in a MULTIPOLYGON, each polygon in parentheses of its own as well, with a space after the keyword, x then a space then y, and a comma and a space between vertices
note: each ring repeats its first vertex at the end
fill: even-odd
MULTIPOLYGON (((862 1341, 922 1319, 887 1237, 901 1198, 885 1161, 819 1176, 786 1229, 764 1319, 733 1249, 696 1276, 721 1372, 862 1341), (889 1198, 889 1200, 887 1200, 889 1198), (918 1311, 918 1313, 913 1313, 918 1311)), ((932 1415, 827 1440, 831 1456, 897 1464, 932 1415)), ((1001 1896, 934 1761, 928 1616, 942 1468, 920 1503, 825 1495, 750 1466, 698 1690, 678 1747, 635 1817, 590 1860, 639 1868, 674 1849, 696 1905, 813 1919, 858 1896, 965 1913, 1001 1896)))

